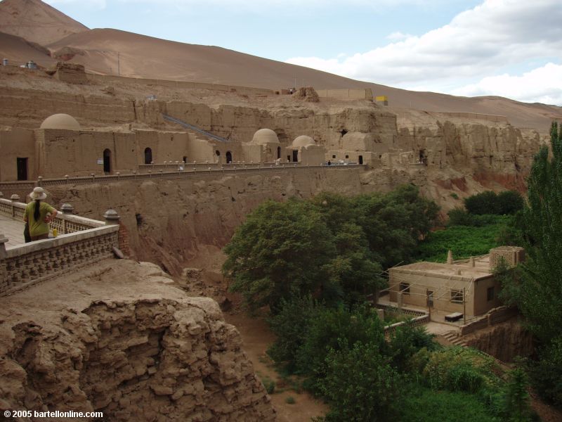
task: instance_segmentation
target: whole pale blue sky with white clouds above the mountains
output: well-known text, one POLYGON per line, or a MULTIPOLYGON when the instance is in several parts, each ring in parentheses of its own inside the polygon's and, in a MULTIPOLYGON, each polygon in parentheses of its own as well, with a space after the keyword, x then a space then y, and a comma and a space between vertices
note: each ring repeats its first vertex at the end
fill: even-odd
POLYGON ((414 91, 562 106, 562 0, 46 0, 87 27, 414 91))

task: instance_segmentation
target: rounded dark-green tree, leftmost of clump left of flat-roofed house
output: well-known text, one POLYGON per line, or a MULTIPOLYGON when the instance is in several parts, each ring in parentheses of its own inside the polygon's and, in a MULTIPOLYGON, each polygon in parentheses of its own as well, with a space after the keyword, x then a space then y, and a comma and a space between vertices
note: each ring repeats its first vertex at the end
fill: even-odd
POLYGON ((311 203, 268 200, 247 216, 224 252, 230 289, 242 293, 249 309, 275 311, 282 298, 322 291, 336 246, 311 203))

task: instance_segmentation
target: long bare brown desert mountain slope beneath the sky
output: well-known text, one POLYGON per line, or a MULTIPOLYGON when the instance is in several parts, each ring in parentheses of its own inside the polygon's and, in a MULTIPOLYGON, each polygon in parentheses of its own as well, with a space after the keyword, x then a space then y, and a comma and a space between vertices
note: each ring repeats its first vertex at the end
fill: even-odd
MULTIPOLYGON (((553 118, 562 118, 562 108, 544 104, 529 104, 502 97, 457 97, 433 92, 407 91, 380 84, 361 82, 320 70, 251 56, 216 46, 202 46, 167 41, 145 35, 113 29, 87 30, 86 27, 55 11, 40 0, 4 0, 0 13, 13 8, 20 15, 46 16, 53 11, 61 28, 72 32, 46 46, 51 57, 37 57, 40 65, 50 65, 53 58, 83 64, 87 72, 150 79, 169 79, 214 84, 242 85, 280 89, 303 82, 317 89, 370 88, 374 95, 386 95, 393 108, 415 108, 426 111, 483 113, 507 116, 511 124, 547 130, 553 118), (18 6, 19 5, 19 6, 18 6), (16 8, 15 6, 18 6, 16 8), (24 7, 25 6, 25 7, 24 7), (62 16, 62 18, 61 18, 62 16)), ((1 14, 1 26, 4 14, 1 14)), ((30 34, 51 34, 53 27, 41 24, 46 20, 26 20, 25 38, 30 34), (42 26, 41 26, 42 25, 42 26)), ((50 21, 54 22, 53 20, 50 21)), ((52 25, 55 25, 54 23, 52 25)), ((45 39, 45 37, 42 37, 45 39)), ((38 39, 38 38, 36 38, 38 39)), ((18 56, 7 51, 0 34, 0 55, 23 62, 25 53, 18 56)), ((11 40, 13 41, 13 40, 11 40)), ((31 53, 29 53, 31 54, 31 53)))

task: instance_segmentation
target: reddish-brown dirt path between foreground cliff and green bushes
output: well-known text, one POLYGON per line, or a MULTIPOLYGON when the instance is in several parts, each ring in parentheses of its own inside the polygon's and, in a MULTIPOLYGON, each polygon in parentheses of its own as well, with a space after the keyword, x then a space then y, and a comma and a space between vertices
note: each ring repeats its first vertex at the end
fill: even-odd
MULTIPOLYGON (((246 314, 224 314, 226 321, 240 331, 244 341, 244 350, 254 364, 254 369, 264 383, 275 382, 275 391, 270 395, 273 407, 277 411, 279 422, 308 422, 312 417, 322 416, 328 410, 326 404, 314 399, 306 392, 296 392, 282 380, 266 355, 266 350, 275 336, 269 331, 265 321, 252 319, 246 314), (287 397, 294 399, 294 404, 286 402, 287 397)), ((290 401, 290 399, 289 399, 290 401)))

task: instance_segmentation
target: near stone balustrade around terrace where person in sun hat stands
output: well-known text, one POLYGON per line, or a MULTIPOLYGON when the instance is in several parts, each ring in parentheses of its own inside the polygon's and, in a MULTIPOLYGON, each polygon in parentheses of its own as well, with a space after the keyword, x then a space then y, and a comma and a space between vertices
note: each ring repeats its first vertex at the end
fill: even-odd
MULTIPOLYGON (((3 215, 23 218, 25 204, 0 198, 3 215)), ((67 271, 111 257, 119 248, 119 215, 105 212, 105 222, 70 215, 72 207, 63 205, 51 229, 55 238, 16 245, 6 249, 7 238, 0 234, 0 296, 9 295, 67 271)))

